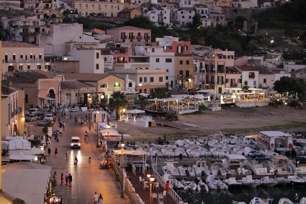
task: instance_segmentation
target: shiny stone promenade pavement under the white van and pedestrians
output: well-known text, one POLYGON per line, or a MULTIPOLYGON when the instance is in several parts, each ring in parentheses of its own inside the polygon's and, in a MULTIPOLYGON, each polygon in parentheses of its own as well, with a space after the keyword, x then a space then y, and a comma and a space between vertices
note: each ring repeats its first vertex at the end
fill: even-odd
MULTIPOLYGON (((91 126, 84 125, 80 127, 79 124, 74 124, 74 117, 85 118, 87 112, 72 112, 72 118, 65 125, 65 131, 62 136, 59 136, 59 142, 51 139, 48 147, 51 149, 51 157, 47 158, 46 165, 51 166, 51 174, 57 172, 57 186, 55 187, 55 196, 62 196, 65 204, 92 204, 93 195, 97 192, 102 194, 103 204, 130 204, 127 194, 124 193, 124 198, 121 198, 121 184, 115 180, 115 174, 112 169, 99 169, 100 160, 99 155, 102 154, 103 149, 96 148, 96 134, 91 126), (85 131, 89 132, 89 142, 84 142, 85 131), (71 136, 79 136, 82 143, 81 149, 70 149, 71 136), (58 149, 58 157, 54 158, 54 150, 58 149), (69 152, 69 160, 66 160, 66 149, 69 152), (77 157, 77 168, 74 168, 74 157, 77 157), (91 157, 91 168, 89 168, 88 158, 91 157), (72 187, 65 187, 65 181, 61 186, 61 173, 66 174, 66 171, 72 175, 72 187)), ((68 113, 69 115, 69 113, 68 113)), ((61 117, 61 121, 65 121, 61 117)), ((58 129, 58 119, 54 124, 53 130, 58 129)), ((46 153, 47 149, 46 148, 46 153)), ((46 154, 48 155, 48 154, 46 154)))

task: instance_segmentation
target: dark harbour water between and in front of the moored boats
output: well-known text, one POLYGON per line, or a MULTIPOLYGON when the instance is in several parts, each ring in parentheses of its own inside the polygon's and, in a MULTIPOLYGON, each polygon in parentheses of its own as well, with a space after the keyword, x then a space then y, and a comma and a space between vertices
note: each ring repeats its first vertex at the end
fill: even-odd
MULTIPOLYGON (((302 134, 301 138, 306 138, 306 132, 295 132, 296 135, 302 134)), ((173 159, 174 161, 196 161, 199 158, 158 158, 157 166, 161 168, 163 162, 167 159, 173 159)), ((210 165, 210 161, 213 158, 202 158, 207 161, 207 165, 210 165)), ((216 160, 216 159, 214 159, 216 160)), ((204 181, 205 182, 205 181, 204 181)), ((177 194, 184 200, 187 199, 188 204, 201 204, 202 201, 206 204, 231 204, 233 201, 249 202, 253 197, 259 198, 273 198, 272 204, 277 204, 280 198, 289 198, 293 203, 299 203, 302 197, 306 197, 305 188, 292 186, 288 184, 286 186, 274 186, 274 187, 237 187, 237 189, 229 190, 209 190, 206 191, 184 191, 177 190, 177 194)))

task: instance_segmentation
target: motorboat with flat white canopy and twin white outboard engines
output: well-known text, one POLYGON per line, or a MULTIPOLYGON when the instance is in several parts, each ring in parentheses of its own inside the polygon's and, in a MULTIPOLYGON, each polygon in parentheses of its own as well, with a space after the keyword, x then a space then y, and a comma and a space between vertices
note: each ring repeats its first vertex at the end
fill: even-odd
POLYGON ((250 171, 248 167, 244 166, 246 158, 241 154, 226 154, 222 160, 226 171, 232 174, 248 175, 250 171))

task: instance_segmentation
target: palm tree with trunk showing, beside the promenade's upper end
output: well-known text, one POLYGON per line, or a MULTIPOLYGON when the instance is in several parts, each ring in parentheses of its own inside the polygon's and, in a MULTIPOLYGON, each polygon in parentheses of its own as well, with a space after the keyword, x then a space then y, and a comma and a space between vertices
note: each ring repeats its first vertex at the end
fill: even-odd
POLYGON ((116 109, 116 120, 120 119, 120 109, 126 108, 128 104, 128 100, 125 98, 125 95, 123 95, 123 92, 121 93, 121 91, 113 91, 108 101, 110 109, 116 109))

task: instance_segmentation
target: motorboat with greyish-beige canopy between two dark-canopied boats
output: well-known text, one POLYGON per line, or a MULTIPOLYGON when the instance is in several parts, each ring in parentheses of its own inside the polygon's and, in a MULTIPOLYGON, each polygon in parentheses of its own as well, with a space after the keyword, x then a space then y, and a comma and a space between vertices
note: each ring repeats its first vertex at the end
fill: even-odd
POLYGON ((284 155, 273 155, 270 157, 269 165, 274 171, 277 170, 279 175, 293 175, 293 169, 289 165, 289 158, 284 155))

